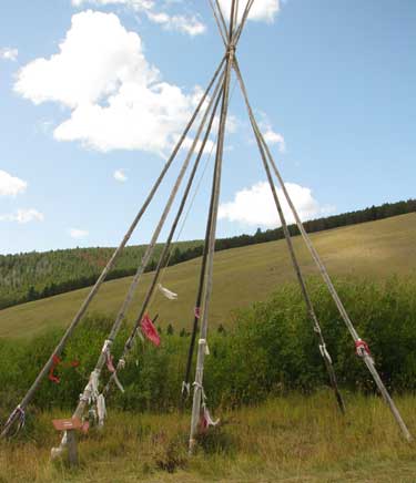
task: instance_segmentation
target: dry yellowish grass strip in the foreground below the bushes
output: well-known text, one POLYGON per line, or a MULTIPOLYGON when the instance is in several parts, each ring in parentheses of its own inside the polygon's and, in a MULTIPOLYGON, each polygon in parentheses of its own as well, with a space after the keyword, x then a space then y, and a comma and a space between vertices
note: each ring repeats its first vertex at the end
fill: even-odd
MULTIPOLYGON (((397 399, 416 431, 415 397, 397 399)), ((81 465, 51 463, 52 414, 37 415, 30 438, 0 445, 1 482, 415 482, 416 445, 406 443, 377 398, 347 397, 338 414, 326 391, 221 413, 223 425, 186 454, 189 411, 111 412, 102 434, 82 436, 81 465)), ((59 415, 58 413, 53 415, 59 415)))

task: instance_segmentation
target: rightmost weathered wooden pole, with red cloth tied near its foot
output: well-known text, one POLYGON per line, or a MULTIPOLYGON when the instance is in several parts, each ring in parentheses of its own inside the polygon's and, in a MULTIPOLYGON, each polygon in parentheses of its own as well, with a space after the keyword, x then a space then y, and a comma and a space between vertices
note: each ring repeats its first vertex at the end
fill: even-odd
MULTIPOLYGON (((246 89, 245 89, 245 85, 244 85, 244 81, 243 81, 243 78, 242 78, 242 75, 240 73, 240 69, 239 69, 239 64, 237 64, 236 60, 234 61, 234 65, 236 66, 235 71, 236 71, 240 84, 242 85, 243 95, 244 95, 245 99, 248 99, 247 97, 247 93, 246 93, 246 89), (239 73, 240 73, 240 75, 239 75, 239 73)), ((321 260, 319 255, 317 254, 315 247, 313 246, 313 244, 311 242, 310 236, 307 235, 307 233, 306 233, 306 230, 305 230, 305 228, 303 226, 303 223, 302 223, 302 220, 301 220, 301 218, 300 218, 300 216, 297 214, 297 210, 296 210, 296 208, 295 208, 295 206, 294 206, 294 204, 292 202, 292 198, 288 195, 288 192, 286 189, 284 181, 283 181, 283 178, 282 178, 282 176, 281 176, 281 174, 280 174, 280 172, 277 169, 277 166, 276 166, 276 164, 275 164, 275 162, 273 160, 272 153, 271 153, 267 144, 264 143, 263 145, 264 145, 264 148, 266 151, 266 154, 267 154, 267 157, 268 157, 268 162, 270 162, 273 171, 275 172, 275 175, 277 176, 277 179, 278 179, 280 185, 282 187, 282 191, 283 191, 283 193, 285 195, 287 204, 288 204, 288 206, 290 206, 290 208, 291 208, 291 210, 293 213, 293 216, 294 216, 294 218, 296 220, 296 225, 297 225, 297 227, 298 227, 298 229, 300 229, 300 232, 302 234, 302 237, 305 240, 305 244, 306 244, 306 246, 307 246, 307 248, 308 248, 313 259, 315 260, 315 263, 316 263, 316 265, 317 265, 317 267, 318 267, 318 269, 321 271, 321 275, 322 275, 326 286, 328 287, 329 294, 332 295, 332 297, 333 297, 333 299, 335 301, 335 305, 338 308, 338 311, 339 311, 342 318, 344 319, 345 325, 347 326, 347 328, 348 328, 348 330, 349 330, 354 341, 358 342, 358 341, 361 341, 361 338, 359 338, 357 331, 355 330, 355 328, 353 326, 353 322, 351 321, 349 316, 346 312, 343 302, 339 299, 339 296, 338 296, 338 294, 337 294, 333 282, 332 282, 332 280, 329 278, 329 275, 328 275, 328 273, 326 270, 326 267, 324 266, 323 261, 321 260)), ((389 409, 390 409, 390 411, 392 411, 392 413, 393 413, 393 415, 394 415, 398 427, 402 430, 403 435, 405 436, 405 439, 407 441, 412 441, 412 439, 413 439, 412 434, 408 431, 405 422, 403 421, 402 415, 400 415, 400 413, 399 413, 395 402, 393 401, 393 399, 389 395, 386 387, 384 386, 384 383, 383 383, 383 381, 382 381, 382 379, 381 379, 381 377, 378 374, 378 371, 377 371, 377 369, 375 367, 373 358, 366 351, 362 351, 362 358, 363 358, 367 369, 369 370, 371 374, 373 376, 373 379, 374 379, 374 381, 375 381, 379 392, 382 393, 385 402, 389 407, 389 409)))

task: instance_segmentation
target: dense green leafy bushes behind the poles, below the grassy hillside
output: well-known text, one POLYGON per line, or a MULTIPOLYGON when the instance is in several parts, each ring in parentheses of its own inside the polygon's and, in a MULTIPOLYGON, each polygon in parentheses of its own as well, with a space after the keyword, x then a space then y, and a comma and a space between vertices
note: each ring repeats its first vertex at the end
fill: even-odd
MULTIPOLYGON (((416 282, 343 281, 337 288, 358 333, 368 342, 386 386, 394 391, 415 390, 416 282)), ((326 288, 311 280, 310 289, 339 384, 351 390, 375 391, 326 288)), ((282 287, 268 301, 254 304, 232 318, 226 331, 210 335, 211 356, 206 358, 204 374, 210 408, 253 404, 270 394, 293 390, 307 393, 327 383, 296 286, 282 287)), ((62 356, 62 364, 57 368, 61 382, 44 380, 34 398, 35 407, 74 407, 111 323, 110 317, 99 315, 81 323, 62 356), (73 360, 79 361, 75 369, 70 367, 73 360)), ((126 326, 114 345, 115 360, 129 333, 126 326)), ((61 331, 53 330, 33 340, 0 341, 0 415, 6 415, 6 410, 14 407, 24 394, 60 336, 61 331)), ((125 392, 113 388, 109 403, 129 410, 176 408, 189 342, 189 333, 162 336, 160 348, 138 342, 120 373, 125 392)), ((105 369, 102 382, 108 376, 105 369)))

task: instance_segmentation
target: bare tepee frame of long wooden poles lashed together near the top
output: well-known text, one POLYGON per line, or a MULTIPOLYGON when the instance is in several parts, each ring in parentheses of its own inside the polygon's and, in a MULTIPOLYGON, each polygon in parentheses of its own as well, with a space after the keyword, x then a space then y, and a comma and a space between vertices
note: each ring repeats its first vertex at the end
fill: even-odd
MULTIPOLYGON (((105 413, 105 397, 109 393, 109 389, 112 384, 112 382, 115 382, 116 386, 122 390, 121 382, 119 380, 119 374, 122 373, 122 369, 128 362, 128 356, 132 348, 134 347, 134 342, 136 341, 136 338, 141 336, 141 323, 143 320, 143 317, 145 317, 149 306, 153 299, 154 291, 158 287, 158 281, 160 280, 161 274, 164 270, 164 268, 169 264, 170 254, 172 250, 172 242, 174 239, 175 234, 177 233, 177 227, 180 225, 181 219, 184 217, 185 206, 186 204, 192 205, 192 201, 190 203, 190 193, 192 191, 192 187, 194 186, 196 174, 199 169, 201 169, 201 158, 205 154, 207 142, 210 141, 210 136, 214 135, 216 144, 215 144, 215 163, 213 168, 213 179, 212 179, 212 188, 211 188, 211 199, 209 205, 209 214, 207 214, 207 220, 206 220, 206 230, 205 230, 205 243, 204 243, 204 250, 202 256, 202 263, 201 263, 201 273, 199 277, 199 287, 197 287, 197 295, 196 295, 196 301, 195 301, 195 310, 192 316, 192 337, 190 342, 190 349, 187 353, 187 363, 185 369, 185 376, 184 381, 182 384, 182 397, 183 400, 186 399, 186 397, 191 393, 191 372, 192 372, 192 361, 194 359, 194 346, 196 345, 196 333, 197 330, 200 330, 200 337, 197 340, 197 353, 196 353, 196 369, 195 369, 195 377, 194 382, 192 384, 193 389, 193 401, 192 401, 192 419, 191 419, 191 430, 190 430, 190 452, 192 453, 195 446, 196 441, 196 434, 199 431, 199 424, 201 421, 201 418, 204 415, 204 411, 206 411, 205 407, 205 392, 203 388, 203 379, 204 379, 204 360, 205 356, 209 354, 209 346, 207 346, 207 336, 209 336, 209 318, 210 318, 210 306, 211 306, 211 295, 212 295, 212 288, 213 288, 213 263, 214 263, 214 251, 215 251, 215 235, 216 235, 216 222, 217 222, 217 213, 219 213, 219 202, 220 202, 220 192, 221 192, 221 176, 222 176, 222 166, 223 166, 223 154, 224 154, 224 140, 225 140, 225 131, 226 131, 226 120, 227 120, 227 112, 229 112, 229 104, 230 104, 230 95, 231 95, 231 79, 232 74, 234 73, 236 76, 236 82, 240 85, 240 90, 243 94, 244 103, 247 109, 248 119, 251 126, 253 129, 254 137, 257 143, 258 152, 260 152, 260 158, 262 161, 265 175, 267 177, 267 182, 271 187, 271 193, 273 195, 273 202, 276 206, 276 213, 280 218, 280 222, 283 227, 283 233, 286 239, 288 253, 291 260, 293 263, 293 267, 297 277, 297 281, 301 287, 301 292, 303 295, 303 298, 305 300, 305 306, 307 309, 307 314, 310 316, 312 328, 316 335, 317 340, 317 350, 319 350, 319 353, 322 354, 322 359, 324 362, 324 366, 328 373, 328 381, 331 383, 331 387, 334 391, 336 402, 338 404, 338 408, 342 412, 345 411, 344 402, 341 395, 341 392, 338 390, 336 376, 334 371, 334 366, 332 358, 329 356, 329 350, 326 347, 325 339, 323 331, 321 329, 321 325, 318 321, 318 318, 316 316, 316 311, 313 307, 312 299, 310 297, 306 281, 304 278, 304 275, 302 273, 302 267, 298 263, 290 230, 287 228, 287 223, 285 219, 285 215, 282 209, 282 202, 280 199, 280 195, 277 193, 277 189, 275 187, 275 179, 277 179, 278 185, 281 186, 284 199, 290 206, 290 209, 293 214, 293 217, 296 222, 296 225, 298 227, 298 230, 302 235, 303 240, 306 244, 306 247, 308 251, 311 253, 311 256, 316 264, 318 271, 321 273, 323 280, 325 285, 328 288, 328 291, 339 311, 339 315, 342 319, 344 320, 347 330, 349 331, 354 343, 355 343, 355 350, 356 353, 363 359, 363 362, 369 370, 379 392, 382 393, 385 402, 387 403, 388 408, 390 409, 397 424, 399 425, 404 436, 406 440, 410 441, 412 435, 403 421, 400 413, 398 409, 396 408, 392 397, 389 395, 386 387, 384 386, 378 371, 375 367, 374 359, 372 354, 369 353, 368 346, 359 338, 356 329, 354 328, 353 321, 351 320, 332 280, 331 277, 319 257, 316 249, 314 248, 311 238, 308 237, 301 218, 297 214, 297 210, 291 199, 291 196, 286 189, 286 186, 283 182, 283 178, 280 174, 280 171, 277 168, 277 164, 275 163, 272 153, 264 140, 264 136, 261 132, 261 129, 256 122, 255 115, 253 113, 247 90, 243 80, 242 72, 240 70, 240 65, 236 58, 236 48, 239 44, 239 41, 241 39, 242 32, 244 31, 245 23, 247 21, 247 18, 250 16, 250 11, 253 7, 253 3, 255 0, 248 0, 245 2, 244 8, 242 7, 242 2, 239 0, 232 0, 231 1, 231 8, 227 16, 224 17, 224 12, 221 9, 219 0, 209 0, 210 7, 212 8, 215 22, 217 24, 221 39, 225 47, 225 54, 223 59, 220 62, 219 68, 216 69, 215 73, 213 74, 211 81, 209 82, 209 85, 202 95, 190 122, 187 123, 186 127, 184 129, 184 132, 182 133, 181 137, 177 141, 177 144, 175 145, 172 155, 169 157, 166 164, 164 165, 160 176, 155 181, 152 189, 150 191, 145 202, 143 203, 143 206, 140 208, 136 217, 134 218, 132 225, 128 229, 125 236, 123 237, 120 246, 115 249, 114 254, 110 258, 108 265, 105 266, 104 270, 100 275, 99 279, 97 280, 95 285, 91 289, 90 294, 85 298, 84 302, 82 304, 81 308, 79 309, 78 314, 75 315, 74 319, 68 327, 64 336, 55 347, 53 353, 44 364, 44 367, 39 372, 39 376, 34 380, 33 384, 28 390, 27 394, 23 397, 23 399, 20 401, 20 403, 16 407, 16 409, 10 414, 8 421, 6 422, 1 436, 9 435, 13 428, 18 430, 24 422, 24 415, 27 408, 29 403, 32 401, 35 392, 38 391, 42 380, 50 373, 51 368, 53 368, 54 360, 57 357, 61 356, 62 351, 64 350, 68 341, 70 340, 71 336, 73 335, 74 330, 81 322, 83 316, 85 315, 91 301, 94 299, 97 294, 99 292, 99 289, 102 285, 102 282, 105 280, 109 271, 114 266, 115 260, 120 253, 125 247, 126 243, 129 242, 130 237, 132 236, 134 229, 139 225, 142 216, 146 212, 149 205, 151 204, 155 193, 160 189, 161 183, 164 179, 166 173, 171 169, 173 162, 177 157, 177 153, 183 147, 183 143, 186 138, 186 136, 192 133, 194 136, 194 140, 192 142, 192 145, 187 152, 187 154, 184 157, 184 161, 181 165, 180 172, 177 174, 177 177, 173 184, 173 187, 171 189, 170 196, 168 197, 166 204, 163 208, 163 212, 160 216, 160 219, 158 222, 158 225, 154 229, 154 233, 152 235, 152 238, 150 240, 150 244, 138 266, 138 270, 135 276, 132 279, 131 286, 128 290, 128 294, 122 301, 122 305, 120 307, 120 310, 118 312, 118 316, 114 320, 114 323, 108 335, 108 338, 105 339, 103 343, 103 348, 101 351, 101 354, 97 361, 95 367, 93 368, 88 384, 85 386, 80 400, 77 404, 77 409, 73 413, 73 417, 82 418, 85 413, 87 409, 91 405, 94 405, 98 408, 99 412, 99 420, 100 424, 103 424, 104 413, 105 413), (220 107, 220 114, 217 114, 220 107), (219 127, 217 132, 213 134, 213 125, 214 121, 219 120, 219 127), (196 127, 195 127, 196 125, 196 127), (171 228, 169 230, 169 236, 166 242, 163 244, 163 248, 161 251, 161 255, 159 257, 159 261, 156 265, 156 269, 151 276, 151 284, 150 287, 144 296, 144 299, 141 304, 140 311, 138 314, 138 317, 135 319, 135 323, 133 325, 132 331, 128 338, 128 340, 124 343, 124 350, 122 353, 122 357, 118 361, 115 368, 113 367, 111 370, 111 377, 110 380, 106 382, 106 384, 101 386, 100 378, 102 376, 102 369, 108 363, 109 367, 112 367, 112 356, 111 356, 111 348, 112 345, 120 331, 121 325, 125 318, 125 314, 131 306, 131 302, 133 300, 134 295, 136 294, 138 286, 142 279, 143 273, 149 266, 150 261, 152 260, 152 256, 154 255, 154 249, 158 243, 158 239, 160 237, 160 234, 165 226, 166 219, 172 210, 172 207, 174 205, 174 202, 177 198, 177 194, 181 192, 181 187, 183 184, 183 181, 185 178, 186 173, 189 173, 187 182, 185 184, 185 187, 183 189, 183 193, 181 195, 181 201, 176 210, 176 214, 174 216, 173 223, 171 225, 171 228), (111 362, 109 364, 109 361, 111 362), (101 387, 101 389, 100 389, 101 387)), ((61 450, 65 446, 67 440, 65 438, 62 439, 61 444, 59 449, 53 450, 52 454, 58 455, 60 454, 61 450)))

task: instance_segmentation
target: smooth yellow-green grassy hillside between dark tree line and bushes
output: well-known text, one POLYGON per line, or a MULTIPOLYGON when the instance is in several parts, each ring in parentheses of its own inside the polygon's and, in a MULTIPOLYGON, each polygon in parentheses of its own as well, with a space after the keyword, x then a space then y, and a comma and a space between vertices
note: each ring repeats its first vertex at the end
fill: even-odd
MULTIPOLYGON (((392 275, 416 275, 416 213, 377 222, 321 232, 312 239, 334 277, 381 279, 392 275)), ((315 275, 300 237, 295 248, 305 274, 315 275)), ((162 282, 179 294, 169 301, 160 294, 151 314, 160 314, 162 326, 190 327, 201 259, 193 259, 165 270, 162 282)), ((151 274, 146 274, 129 312, 139 311, 151 274)), ((212 325, 227 323, 232 309, 264 300, 280 284, 294 280, 284 240, 223 250, 215 256, 212 325)), ((111 280, 102 287, 91 311, 115 314, 128 290, 131 277, 111 280)), ((28 337, 45 328, 67 327, 89 289, 81 289, 0 311, 0 337, 28 337)))

